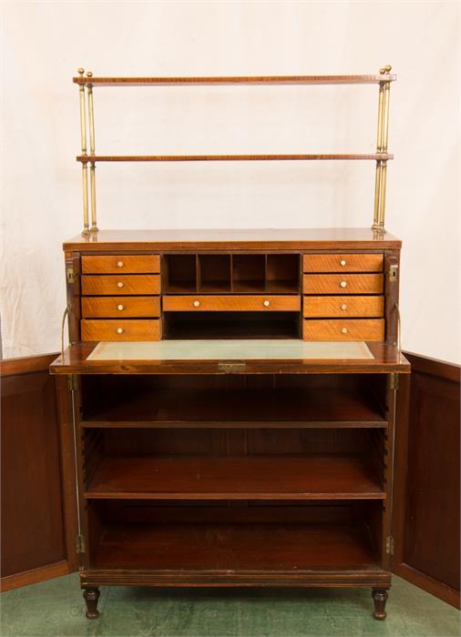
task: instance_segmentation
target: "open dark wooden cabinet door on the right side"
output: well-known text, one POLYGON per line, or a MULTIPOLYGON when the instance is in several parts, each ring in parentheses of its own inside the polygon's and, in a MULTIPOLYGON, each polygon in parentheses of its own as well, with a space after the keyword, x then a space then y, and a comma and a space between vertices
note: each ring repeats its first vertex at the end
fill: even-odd
POLYGON ((460 368, 405 353, 397 391, 394 572, 459 607, 460 368))

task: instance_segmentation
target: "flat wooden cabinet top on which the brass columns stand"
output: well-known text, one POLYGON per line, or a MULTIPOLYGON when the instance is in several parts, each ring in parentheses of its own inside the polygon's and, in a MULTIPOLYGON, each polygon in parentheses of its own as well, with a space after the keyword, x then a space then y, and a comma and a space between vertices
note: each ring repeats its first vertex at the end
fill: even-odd
POLYGON ((70 238, 65 250, 194 249, 383 249, 401 248, 389 232, 355 228, 240 228, 99 230, 90 237, 70 238))

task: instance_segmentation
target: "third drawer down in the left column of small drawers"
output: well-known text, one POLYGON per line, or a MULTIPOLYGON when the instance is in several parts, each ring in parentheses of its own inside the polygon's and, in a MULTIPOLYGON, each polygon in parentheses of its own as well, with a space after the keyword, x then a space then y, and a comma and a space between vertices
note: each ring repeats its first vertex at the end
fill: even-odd
POLYGON ((84 319, 130 319, 160 316, 159 297, 84 297, 84 319))

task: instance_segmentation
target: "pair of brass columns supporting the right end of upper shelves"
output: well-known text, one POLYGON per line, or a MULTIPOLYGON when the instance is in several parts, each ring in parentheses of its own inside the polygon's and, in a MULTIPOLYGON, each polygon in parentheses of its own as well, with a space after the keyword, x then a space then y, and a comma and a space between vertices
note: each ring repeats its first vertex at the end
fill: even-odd
MULTIPOLYGON (((390 73, 392 66, 384 66, 379 72, 382 76, 390 73)), ((376 139, 376 153, 387 154, 387 142, 389 137, 389 96, 390 80, 386 79, 379 83, 379 103, 378 103, 378 131, 376 139)), ((385 186, 387 177, 387 160, 376 160, 376 177, 374 183, 374 218, 372 229, 384 232, 384 211, 385 211, 385 186)))

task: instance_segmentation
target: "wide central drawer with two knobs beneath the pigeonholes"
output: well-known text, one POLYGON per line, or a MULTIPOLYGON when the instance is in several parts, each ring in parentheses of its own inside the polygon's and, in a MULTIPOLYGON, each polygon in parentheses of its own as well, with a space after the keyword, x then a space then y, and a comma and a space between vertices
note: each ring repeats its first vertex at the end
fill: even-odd
POLYGON ((299 295, 207 295, 207 296, 164 296, 165 312, 270 312, 299 311, 301 297, 299 295))

